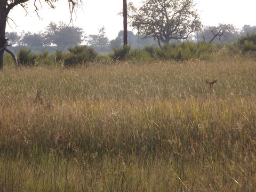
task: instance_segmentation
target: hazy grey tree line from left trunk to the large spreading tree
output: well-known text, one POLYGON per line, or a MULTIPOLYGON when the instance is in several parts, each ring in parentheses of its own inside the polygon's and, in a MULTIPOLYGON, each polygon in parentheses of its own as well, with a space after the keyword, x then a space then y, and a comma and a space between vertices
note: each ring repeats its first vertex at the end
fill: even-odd
MULTIPOLYGON (((55 46, 59 51, 67 51, 68 47, 86 44, 98 52, 110 52, 113 49, 123 45, 123 30, 119 31, 115 39, 109 40, 106 36, 105 27, 100 27, 98 34, 86 36, 83 29, 69 26, 66 23, 50 22, 44 31, 31 33, 23 31, 6 32, 6 38, 12 46, 29 47, 52 47, 55 46)), ((132 48, 143 47, 145 45, 156 45, 153 38, 141 38, 143 35, 134 34, 133 31, 127 31, 128 43, 132 48)))

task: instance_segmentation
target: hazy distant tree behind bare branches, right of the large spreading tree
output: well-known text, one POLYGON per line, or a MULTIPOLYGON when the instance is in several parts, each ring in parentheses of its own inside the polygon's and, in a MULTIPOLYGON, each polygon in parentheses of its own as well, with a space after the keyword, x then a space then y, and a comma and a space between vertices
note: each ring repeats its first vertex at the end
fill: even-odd
POLYGON ((234 41, 239 35, 239 31, 234 25, 219 24, 219 26, 203 26, 196 34, 196 41, 225 43, 234 41))

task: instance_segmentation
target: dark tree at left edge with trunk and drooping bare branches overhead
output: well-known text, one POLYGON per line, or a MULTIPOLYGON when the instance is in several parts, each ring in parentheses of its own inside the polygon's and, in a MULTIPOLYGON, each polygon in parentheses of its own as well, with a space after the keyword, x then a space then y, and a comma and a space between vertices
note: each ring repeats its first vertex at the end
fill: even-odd
MULTIPOLYGON (((9 19, 8 14, 10 11, 17 5, 21 5, 27 11, 27 2, 29 0, 0 0, 0 69, 3 68, 3 58, 4 58, 4 51, 7 51, 7 40, 5 38, 5 28, 7 19, 9 19)), ((32 0, 30 0, 32 1, 32 0)), ((54 8, 54 3, 58 0, 33 0, 35 11, 38 11, 37 3, 41 4, 42 2, 47 3, 51 8, 54 8)), ((67 0, 69 4, 70 15, 72 18, 72 14, 75 11, 75 7, 80 3, 82 0, 67 0)))

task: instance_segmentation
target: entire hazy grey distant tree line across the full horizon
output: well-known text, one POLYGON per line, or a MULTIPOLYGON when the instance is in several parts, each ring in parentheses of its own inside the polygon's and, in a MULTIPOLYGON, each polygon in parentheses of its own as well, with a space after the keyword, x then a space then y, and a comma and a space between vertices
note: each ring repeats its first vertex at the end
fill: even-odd
MULTIPOLYGON (((238 37, 245 36, 246 33, 256 33, 256 26, 244 25, 242 29, 236 28, 231 24, 219 24, 218 26, 201 26, 195 34, 191 34, 187 41, 190 42, 210 42, 227 43, 233 42, 238 37), (222 35, 214 38, 219 31, 222 35)), ((143 48, 146 45, 158 46, 154 37, 145 38, 145 34, 138 34, 128 31, 127 40, 132 49, 143 48)), ((123 45, 123 30, 119 31, 115 39, 109 40, 106 36, 105 27, 100 27, 98 34, 86 36, 83 29, 79 27, 69 26, 63 22, 51 22, 44 31, 38 33, 24 32, 6 32, 9 43, 12 46, 29 46, 29 47, 52 47, 59 51, 65 51, 68 47, 86 44, 91 46, 97 52, 110 52, 123 45)), ((171 43, 177 43, 177 39, 172 39, 171 43)), ((18 48, 17 47, 17 48, 18 48)))

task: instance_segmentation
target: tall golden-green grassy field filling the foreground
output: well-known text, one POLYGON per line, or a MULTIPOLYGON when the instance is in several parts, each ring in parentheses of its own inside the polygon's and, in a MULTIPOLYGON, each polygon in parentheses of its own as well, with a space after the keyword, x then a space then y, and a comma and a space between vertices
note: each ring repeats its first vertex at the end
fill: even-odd
POLYGON ((215 58, 4 68, 0 191, 255 191, 256 60, 215 58))

